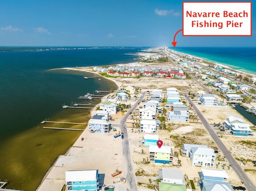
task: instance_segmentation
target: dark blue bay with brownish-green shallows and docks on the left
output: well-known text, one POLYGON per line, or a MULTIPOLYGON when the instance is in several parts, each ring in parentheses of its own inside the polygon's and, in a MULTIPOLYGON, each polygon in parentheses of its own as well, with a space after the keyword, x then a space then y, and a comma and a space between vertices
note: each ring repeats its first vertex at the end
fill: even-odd
MULTIPOLYGON (((0 179, 8 180, 7 188, 34 191, 55 159, 81 134, 43 129, 43 126, 71 126, 40 122, 47 119, 86 123, 90 119, 89 110, 62 109, 62 104, 88 103, 89 100, 78 97, 95 90, 117 88, 107 79, 83 78, 94 76, 92 73, 58 68, 134 62, 136 56, 125 53, 140 49, 50 48, 0 47, 0 179)), ((94 104, 99 101, 93 100, 94 104)))

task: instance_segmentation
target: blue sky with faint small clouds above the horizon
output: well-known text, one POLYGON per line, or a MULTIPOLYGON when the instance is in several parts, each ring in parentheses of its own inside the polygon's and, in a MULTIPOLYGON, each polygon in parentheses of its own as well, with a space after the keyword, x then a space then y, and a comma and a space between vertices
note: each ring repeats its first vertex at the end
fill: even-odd
MULTIPOLYGON (((180 32, 176 47, 255 47, 255 3, 252 36, 180 32)), ((182 0, 0 0, 0 46, 172 47, 180 29, 182 0)))

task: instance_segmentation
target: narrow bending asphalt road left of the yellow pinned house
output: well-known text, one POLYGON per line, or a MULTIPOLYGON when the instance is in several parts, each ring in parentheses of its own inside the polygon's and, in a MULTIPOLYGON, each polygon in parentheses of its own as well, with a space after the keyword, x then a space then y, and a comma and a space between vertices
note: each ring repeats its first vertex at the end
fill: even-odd
POLYGON ((142 93, 142 96, 134 102, 134 105, 128 110, 128 112, 123 116, 120 125, 121 125, 121 131, 124 132, 124 139, 123 141, 123 155, 124 158, 126 159, 127 163, 127 175, 126 175, 126 183, 129 184, 130 189, 127 189, 127 191, 137 191, 137 185, 136 185, 136 180, 135 180, 135 175, 133 173, 132 169, 132 158, 130 156, 130 148, 129 148, 129 140, 128 140, 128 133, 127 133, 127 128, 126 128, 126 120, 128 116, 130 115, 130 112, 133 112, 134 109, 138 106, 138 103, 142 101, 142 99, 145 96, 145 93, 142 93))

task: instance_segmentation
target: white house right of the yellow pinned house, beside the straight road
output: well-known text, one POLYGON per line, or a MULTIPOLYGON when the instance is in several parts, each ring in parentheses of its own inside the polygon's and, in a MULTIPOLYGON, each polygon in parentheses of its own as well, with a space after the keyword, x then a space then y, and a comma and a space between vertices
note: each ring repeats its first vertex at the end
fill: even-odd
POLYGON ((214 167, 216 154, 211 148, 192 147, 190 149, 190 160, 192 166, 214 167))

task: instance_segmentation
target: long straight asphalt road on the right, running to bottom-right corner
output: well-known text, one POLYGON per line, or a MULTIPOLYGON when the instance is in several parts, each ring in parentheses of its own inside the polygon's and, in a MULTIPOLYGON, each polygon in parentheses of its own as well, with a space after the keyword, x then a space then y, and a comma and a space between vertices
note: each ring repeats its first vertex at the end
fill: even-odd
MULTIPOLYGON (((220 150, 222 151, 224 156, 226 156, 226 159, 232 165, 232 168, 234 169, 234 171, 236 172, 236 174, 238 175, 240 180, 244 181, 244 186, 246 187, 246 189, 248 191, 256 191, 255 185, 252 183, 252 181, 250 181, 250 179, 248 178, 248 176, 246 175, 244 170, 241 168, 240 164, 230 154, 230 152, 228 151, 226 146, 222 143, 220 138, 218 138, 218 135, 214 132, 214 130, 212 129, 210 124, 206 121, 204 116, 202 116, 201 112, 198 110, 198 108, 195 106, 195 104, 192 102, 192 100, 187 96, 186 93, 183 93, 183 95, 185 95, 188 102, 190 102, 192 104, 192 107, 193 107, 194 111, 196 112, 196 114, 198 115, 198 118, 201 120, 202 124, 205 126, 206 130, 209 132, 210 136, 212 137, 212 139, 214 140, 214 142, 216 143, 218 148, 220 148, 220 150)), ((242 185, 242 183, 241 183, 241 185, 242 185)))

